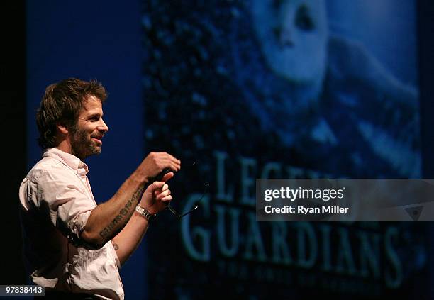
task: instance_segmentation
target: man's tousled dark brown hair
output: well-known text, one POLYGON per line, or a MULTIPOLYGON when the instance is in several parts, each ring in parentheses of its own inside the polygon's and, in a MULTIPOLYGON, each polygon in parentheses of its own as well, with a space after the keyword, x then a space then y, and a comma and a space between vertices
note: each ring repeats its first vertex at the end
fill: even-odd
POLYGON ((106 89, 96 80, 86 82, 77 78, 68 78, 50 84, 40 101, 36 113, 39 130, 38 143, 44 150, 56 145, 56 124, 62 122, 72 130, 77 126, 83 101, 89 96, 96 96, 101 103, 107 98, 106 89))

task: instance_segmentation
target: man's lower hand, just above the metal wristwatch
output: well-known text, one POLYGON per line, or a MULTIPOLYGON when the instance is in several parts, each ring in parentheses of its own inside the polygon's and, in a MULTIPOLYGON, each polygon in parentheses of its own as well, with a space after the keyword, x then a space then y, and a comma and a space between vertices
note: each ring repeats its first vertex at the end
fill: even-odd
POLYGON ((153 182, 143 193, 140 200, 140 206, 150 213, 158 213, 165 209, 172 200, 167 180, 174 176, 173 172, 169 172, 162 177, 161 182, 153 182))

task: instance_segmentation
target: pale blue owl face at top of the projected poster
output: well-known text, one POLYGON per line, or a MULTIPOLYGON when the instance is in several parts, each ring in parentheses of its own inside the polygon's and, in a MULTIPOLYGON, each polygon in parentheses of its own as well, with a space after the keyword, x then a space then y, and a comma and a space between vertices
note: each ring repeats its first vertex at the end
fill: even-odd
POLYGON ((269 67, 291 82, 321 81, 328 24, 323 0, 252 0, 252 20, 269 67))

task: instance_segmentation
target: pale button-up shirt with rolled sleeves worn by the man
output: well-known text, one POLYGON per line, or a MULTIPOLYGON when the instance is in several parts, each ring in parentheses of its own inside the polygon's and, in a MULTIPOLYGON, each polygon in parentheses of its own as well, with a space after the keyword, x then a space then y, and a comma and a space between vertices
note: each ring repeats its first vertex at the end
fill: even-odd
POLYGON ((89 250, 80 237, 96 207, 87 172, 84 162, 57 148, 28 172, 19 191, 24 253, 35 284, 123 299, 113 245, 89 250))

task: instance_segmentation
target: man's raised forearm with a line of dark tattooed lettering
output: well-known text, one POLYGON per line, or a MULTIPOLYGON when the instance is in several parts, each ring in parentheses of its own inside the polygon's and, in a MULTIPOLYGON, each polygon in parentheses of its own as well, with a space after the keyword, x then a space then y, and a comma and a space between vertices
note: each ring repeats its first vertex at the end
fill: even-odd
POLYGON ((109 201, 92 210, 82 238, 101 248, 126 226, 144 189, 145 182, 132 174, 109 201))

